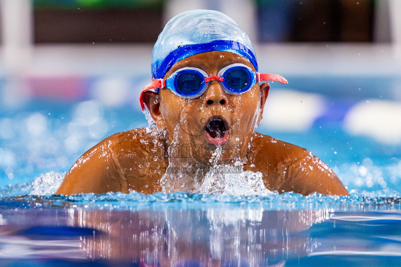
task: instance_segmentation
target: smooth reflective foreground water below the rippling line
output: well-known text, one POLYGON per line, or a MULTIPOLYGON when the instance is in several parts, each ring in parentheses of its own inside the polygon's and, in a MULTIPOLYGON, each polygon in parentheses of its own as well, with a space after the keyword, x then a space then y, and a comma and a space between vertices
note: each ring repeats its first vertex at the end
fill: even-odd
POLYGON ((398 210, 164 203, 135 211, 66 205, 0 212, 1 261, 29 259, 30 266, 42 266, 34 259, 142 267, 391 266, 401 259, 398 210))

